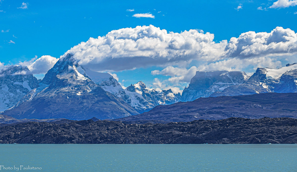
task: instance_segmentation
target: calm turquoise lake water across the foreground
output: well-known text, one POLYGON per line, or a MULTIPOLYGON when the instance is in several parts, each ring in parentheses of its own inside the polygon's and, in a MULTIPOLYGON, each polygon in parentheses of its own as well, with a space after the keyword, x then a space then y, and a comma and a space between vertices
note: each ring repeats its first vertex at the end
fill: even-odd
POLYGON ((0 172, 297 171, 297 144, 1 144, 0 154, 0 172))

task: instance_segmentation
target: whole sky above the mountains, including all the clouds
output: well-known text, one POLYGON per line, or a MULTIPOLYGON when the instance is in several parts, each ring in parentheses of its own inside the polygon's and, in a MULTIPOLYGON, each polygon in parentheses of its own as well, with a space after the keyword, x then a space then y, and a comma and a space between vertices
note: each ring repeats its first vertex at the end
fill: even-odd
POLYGON ((177 92, 197 70, 279 68, 297 62, 297 0, 0 0, 0 68, 42 78, 65 53, 111 73, 177 92))

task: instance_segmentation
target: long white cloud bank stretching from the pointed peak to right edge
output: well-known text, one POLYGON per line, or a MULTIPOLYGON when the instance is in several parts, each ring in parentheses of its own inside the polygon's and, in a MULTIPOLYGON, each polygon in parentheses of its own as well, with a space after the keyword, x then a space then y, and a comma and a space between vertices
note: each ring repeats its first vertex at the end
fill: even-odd
MULTIPOLYGON (((214 34, 209 32, 191 29, 174 33, 149 25, 112 30, 105 36, 81 42, 64 55, 67 53, 73 54, 81 65, 96 71, 150 66, 185 67, 194 61, 198 62, 196 66, 203 65, 204 69, 218 63, 227 65, 230 60, 259 65, 255 59, 268 60, 296 54, 297 34, 289 28, 276 27, 269 33, 249 31, 229 41, 215 42, 214 34)), ((279 64, 277 60, 268 61, 279 64)), ((237 64, 230 66, 240 69, 237 64)))

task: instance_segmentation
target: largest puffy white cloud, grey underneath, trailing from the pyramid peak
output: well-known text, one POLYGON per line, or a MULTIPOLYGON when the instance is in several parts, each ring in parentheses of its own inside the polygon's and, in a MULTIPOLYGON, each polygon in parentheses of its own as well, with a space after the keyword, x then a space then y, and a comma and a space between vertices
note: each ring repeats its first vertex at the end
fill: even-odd
POLYGON ((153 25, 137 26, 90 38, 64 55, 73 54, 79 64, 95 71, 181 65, 192 60, 219 59, 227 41, 216 43, 213 39, 214 34, 201 33, 199 30, 174 33, 153 25))

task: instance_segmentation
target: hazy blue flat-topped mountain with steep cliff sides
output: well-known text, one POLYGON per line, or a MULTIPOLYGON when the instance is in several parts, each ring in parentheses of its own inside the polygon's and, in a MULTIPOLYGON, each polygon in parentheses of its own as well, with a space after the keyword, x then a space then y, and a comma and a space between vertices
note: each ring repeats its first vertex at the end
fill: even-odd
POLYGON ((189 86, 184 88, 180 101, 187 102, 199 97, 209 97, 216 91, 220 92, 227 87, 240 85, 248 78, 249 76, 245 72, 239 71, 197 71, 189 86))

